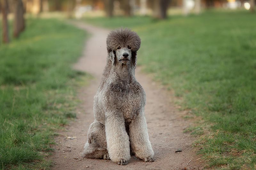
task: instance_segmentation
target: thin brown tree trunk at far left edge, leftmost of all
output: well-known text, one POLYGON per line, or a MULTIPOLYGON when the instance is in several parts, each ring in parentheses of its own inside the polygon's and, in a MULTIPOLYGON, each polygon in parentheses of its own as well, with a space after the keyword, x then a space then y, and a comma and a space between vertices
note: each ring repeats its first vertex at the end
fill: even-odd
POLYGON ((10 39, 9 39, 9 34, 8 34, 8 19, 7 19, 7 15, 8 15, 8 4, 7 4, 7 0, 1 0, 0 1, 0 9, 2 11, 2 27, 3 27, 3 42, 4 43, 9 43, 10 39))

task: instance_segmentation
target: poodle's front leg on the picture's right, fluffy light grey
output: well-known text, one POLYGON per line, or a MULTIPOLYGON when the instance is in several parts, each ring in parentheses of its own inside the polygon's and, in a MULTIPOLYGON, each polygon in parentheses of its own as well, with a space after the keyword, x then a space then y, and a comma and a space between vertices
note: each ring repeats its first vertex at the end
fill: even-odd
POLYGON ((132 152, 139 159, 143 159, 145 162, 153 162, 154 151, 148 137, 148 127, 142 109, 132 120, 130 126, 130 141, 132 152))

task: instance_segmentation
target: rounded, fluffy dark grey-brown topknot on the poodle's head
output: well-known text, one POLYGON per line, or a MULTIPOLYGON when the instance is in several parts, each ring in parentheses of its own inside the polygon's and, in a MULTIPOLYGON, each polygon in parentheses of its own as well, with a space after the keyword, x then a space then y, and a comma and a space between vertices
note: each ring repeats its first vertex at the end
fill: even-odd
POLYGON ((137 33, 128 28, 119 28, 111 31, 107 37, 108 53, 112 50, 116 50, 119 46, 129 46, 132 51, 138 51, 140 48, 140 37, 137 33))

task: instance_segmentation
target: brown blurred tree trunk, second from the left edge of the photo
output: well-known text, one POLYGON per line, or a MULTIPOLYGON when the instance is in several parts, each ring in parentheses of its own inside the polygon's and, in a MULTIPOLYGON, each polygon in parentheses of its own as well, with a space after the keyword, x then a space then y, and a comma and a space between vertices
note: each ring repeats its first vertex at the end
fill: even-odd
POLYGON ((14 0, 13 36, 18 37, 25 29, 24 8, 22 0, 14 0))

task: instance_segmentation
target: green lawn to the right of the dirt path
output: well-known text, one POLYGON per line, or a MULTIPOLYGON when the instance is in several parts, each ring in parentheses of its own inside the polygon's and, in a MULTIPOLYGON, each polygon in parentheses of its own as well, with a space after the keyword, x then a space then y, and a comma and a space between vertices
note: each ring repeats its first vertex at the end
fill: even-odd
POLYGON ((256 15, 208 11, 199 16, 85 18, 141 37, 138 63, 202 117, 190 131, 206 167, 256 169, 256 15), (203 135, 202 135, 203 133, 203 135))

